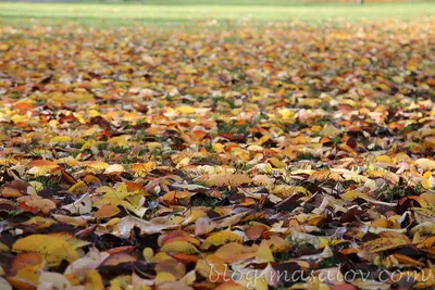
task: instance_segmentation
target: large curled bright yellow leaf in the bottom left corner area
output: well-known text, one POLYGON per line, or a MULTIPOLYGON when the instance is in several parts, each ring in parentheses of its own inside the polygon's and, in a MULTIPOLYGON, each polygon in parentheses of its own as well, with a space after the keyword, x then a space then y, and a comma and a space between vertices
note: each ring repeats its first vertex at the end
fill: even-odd
POLYGON ((12 250, 14 252, 36 252, 44 256, 49 266, 58 266, 62 260, 70 263, 78 259, 77 252, 65 240, 47 236, 32 235, 17 240, 12 250))

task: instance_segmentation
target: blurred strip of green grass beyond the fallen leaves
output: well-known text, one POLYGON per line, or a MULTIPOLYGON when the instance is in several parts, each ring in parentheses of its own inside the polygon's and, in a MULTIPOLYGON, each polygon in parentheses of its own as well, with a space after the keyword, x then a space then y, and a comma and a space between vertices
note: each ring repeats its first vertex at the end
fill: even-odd
POLYGON ((291 0, 145 0, 139 3, 11 3, 0 2, 0 24, 77 22, 92 26, 195 25, 216 20, 239 25, 268 22, 361 21, 417 18, 435 15, 435 2, 295 4, 291 0))

